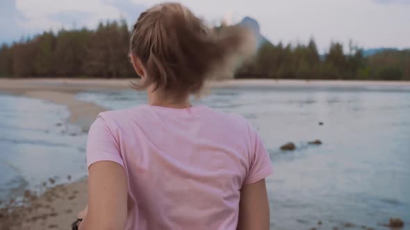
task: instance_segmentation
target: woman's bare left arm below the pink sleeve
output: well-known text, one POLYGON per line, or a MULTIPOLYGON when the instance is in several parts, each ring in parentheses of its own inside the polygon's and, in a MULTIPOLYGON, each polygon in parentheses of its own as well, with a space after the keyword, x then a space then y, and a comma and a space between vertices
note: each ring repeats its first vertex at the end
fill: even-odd
POLYGON ((123 230, 128 186, 125 170, 112 161, 88 168, 88 212, 79 230, 123 230))

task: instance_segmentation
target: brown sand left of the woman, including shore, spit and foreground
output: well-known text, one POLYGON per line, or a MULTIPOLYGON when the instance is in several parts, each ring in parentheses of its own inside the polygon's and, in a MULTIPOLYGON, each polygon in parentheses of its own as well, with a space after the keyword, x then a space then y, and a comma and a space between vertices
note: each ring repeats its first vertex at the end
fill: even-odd
MULTIPOLYGON (((106 83, 104 83, 106 84, 106 83)), ((95 84, 70 84, 66 80, 0 80, 0 93, 7 93, 66 105, 69 109, 70 123, 80 125, 84 130, 95 120, 104 108, 93 103, 75 99, 79 91, 87 89, 126 89, 128 86, 95 84)), ((50 175, 52 177, 53 175, 50 175)), ((76 214, 88 201, 87 180, 52 187, 37 197, 26 191, 23 205, 16 206, 13 201, 5 202, 6 208, 0 211, 0 229, 69 229, 76 214), (10 202, 12 202, 10 204, 10 202)))

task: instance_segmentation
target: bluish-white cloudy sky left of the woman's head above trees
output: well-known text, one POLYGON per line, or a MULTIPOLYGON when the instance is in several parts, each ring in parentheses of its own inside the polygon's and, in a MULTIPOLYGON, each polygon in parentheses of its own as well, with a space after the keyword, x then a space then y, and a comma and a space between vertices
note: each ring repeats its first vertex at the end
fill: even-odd
POLYGON ((60 28, 95 28, 99 21, 132 24, 145 6, 131 0, 0 0, 0 43, 60 28))

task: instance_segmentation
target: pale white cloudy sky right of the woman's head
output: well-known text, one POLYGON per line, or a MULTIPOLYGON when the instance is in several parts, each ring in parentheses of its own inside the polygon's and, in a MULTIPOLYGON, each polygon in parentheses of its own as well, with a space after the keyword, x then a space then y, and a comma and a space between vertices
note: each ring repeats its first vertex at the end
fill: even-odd
MULTIPOLYGON (((151 6, 161 1, 133 0, 151 6)), ((388 1, 388 0, 379 0, 388 1)), ((392 1, 392 0, 391 0, 392 1)), ((394 0, 393 0, 394 1, 394 0)), ((274 42, 307 42, 314 37, 322 51, 331 40, 349 39, 365 47, 410 47, 410 5, 379 4, 373 0, 181 0, 209 21, 227 12, 246 15, 261 24, 262 33, 274 42)))

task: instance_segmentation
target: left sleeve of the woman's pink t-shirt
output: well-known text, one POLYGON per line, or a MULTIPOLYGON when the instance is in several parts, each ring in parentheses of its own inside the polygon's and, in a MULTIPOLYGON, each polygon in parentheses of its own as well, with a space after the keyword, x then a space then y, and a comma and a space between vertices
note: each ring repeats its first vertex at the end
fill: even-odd
POLYGON ((113 161, 124 167, 120 146, 101 114, 92 123, 87 141, 87 166, 98 161, 113 161))

